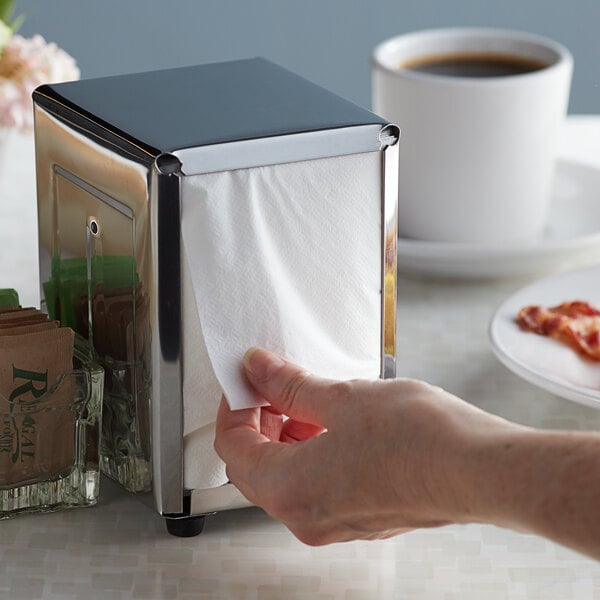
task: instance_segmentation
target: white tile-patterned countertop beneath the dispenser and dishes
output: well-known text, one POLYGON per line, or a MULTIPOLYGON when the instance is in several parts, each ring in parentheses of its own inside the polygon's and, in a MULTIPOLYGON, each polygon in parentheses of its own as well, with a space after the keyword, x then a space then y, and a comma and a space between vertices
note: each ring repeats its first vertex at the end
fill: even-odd
MULTIPOLYGON (((600 118, 570 121, 575 156, 600 138, 600 118)), ((594 148, 600 143, 585 156, 594 148)), ((12 140, 0 180, 0 287, 19 288, 23 304, 39 302, 31 159, 31 141, 12 140)), ((600 411, 532 386, 492 353, 495 308, 531 279, 401 276, 398 374, 520 423, 600 430, 600 411)), ((106 480, 95 507, 0 521, 2 599, 599 597, 600 563, 491 526, 311 548, 250 508, 208 517, 196 538, 175 538, 153 510, 106 480)))

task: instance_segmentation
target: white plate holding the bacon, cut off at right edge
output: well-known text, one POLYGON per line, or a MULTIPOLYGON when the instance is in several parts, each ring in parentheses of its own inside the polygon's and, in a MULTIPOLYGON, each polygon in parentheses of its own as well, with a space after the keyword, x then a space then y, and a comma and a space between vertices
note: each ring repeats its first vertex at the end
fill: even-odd
POLYGON ((600 363, 582 359, 560 342, 522 331, 515 318, 529 304, 566 300, 600 304, 600 266, 541 279, 506 300, 492 318, 490 340, 500 361, 523 379, 557 396, 600 408, 600 363))

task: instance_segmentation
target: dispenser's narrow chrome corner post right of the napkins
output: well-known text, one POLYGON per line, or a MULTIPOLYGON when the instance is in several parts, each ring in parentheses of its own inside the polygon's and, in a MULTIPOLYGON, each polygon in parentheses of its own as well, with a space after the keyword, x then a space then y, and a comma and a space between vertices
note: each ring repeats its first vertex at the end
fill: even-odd
POLYGON ((396 376, 396 299, 398 239, 398 175, 400 128, 389 124, 379 132, 382 160, 381 227, 381 377, 396 376))

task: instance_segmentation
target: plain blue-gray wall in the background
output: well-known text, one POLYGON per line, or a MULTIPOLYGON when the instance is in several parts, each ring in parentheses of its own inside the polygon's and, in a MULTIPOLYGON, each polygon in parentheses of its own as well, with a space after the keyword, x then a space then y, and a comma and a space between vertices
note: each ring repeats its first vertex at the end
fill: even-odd
POLYGON ((600 0, 17 0, 21 33, 76 57, 84 77, 264 56, 370 106, 369 55, 416 29, 539 33, 575 57, 569 111, 600 112, 600 0))

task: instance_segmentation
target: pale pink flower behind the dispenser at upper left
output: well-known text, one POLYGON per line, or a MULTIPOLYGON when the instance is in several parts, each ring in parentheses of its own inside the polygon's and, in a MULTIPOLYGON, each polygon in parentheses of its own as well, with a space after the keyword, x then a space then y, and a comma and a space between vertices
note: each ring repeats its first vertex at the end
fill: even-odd
POLYGON ((0 127, 33 127, 31 94, 43 83, 79 79, 72 56, 41 35, 14 35, 0 55, 0 127))

